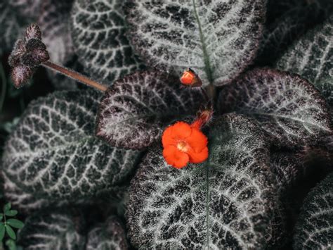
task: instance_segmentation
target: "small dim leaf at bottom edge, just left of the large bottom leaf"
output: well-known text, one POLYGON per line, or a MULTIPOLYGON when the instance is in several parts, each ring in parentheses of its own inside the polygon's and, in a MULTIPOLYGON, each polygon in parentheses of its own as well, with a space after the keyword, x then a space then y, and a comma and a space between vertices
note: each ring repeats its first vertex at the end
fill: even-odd
POLYGON ((102 225, 93 227, 88 233, 86 250, 128 249, 122 223, 111 216, 102 225))

